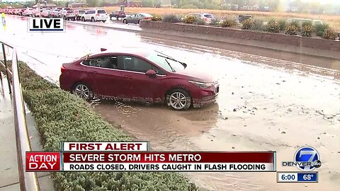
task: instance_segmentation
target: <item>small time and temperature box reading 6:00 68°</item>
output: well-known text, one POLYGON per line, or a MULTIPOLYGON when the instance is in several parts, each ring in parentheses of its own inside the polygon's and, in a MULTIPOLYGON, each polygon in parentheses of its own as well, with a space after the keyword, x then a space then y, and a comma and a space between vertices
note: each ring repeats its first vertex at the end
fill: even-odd
POLYGON ((277 172, 278 183, 317 183, 317 172, 277 172))

